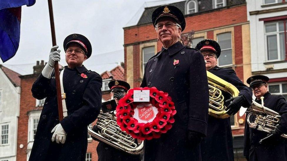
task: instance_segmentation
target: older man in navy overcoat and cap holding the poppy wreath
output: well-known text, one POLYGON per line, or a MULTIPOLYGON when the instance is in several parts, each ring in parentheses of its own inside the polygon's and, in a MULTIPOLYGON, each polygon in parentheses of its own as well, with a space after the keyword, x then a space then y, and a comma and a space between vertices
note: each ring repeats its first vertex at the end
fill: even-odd
POLYGON ((163 47, 146 64, 141 87, 156 87, 171 96, 176 107, 172 128, 158 139, 146 140, 145 160, 201 160, 200 142, 206 136, 208 84, 203 56, 180 40, 183 13, 175 6, 152 14, 163 47))

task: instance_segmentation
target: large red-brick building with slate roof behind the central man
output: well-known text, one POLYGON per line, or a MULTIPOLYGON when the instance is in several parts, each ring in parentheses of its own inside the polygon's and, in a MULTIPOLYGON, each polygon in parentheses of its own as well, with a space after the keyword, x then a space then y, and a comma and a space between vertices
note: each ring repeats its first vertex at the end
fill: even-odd
MULTIPOLYGON (((186 28, 182 35, 194 31, 191 46, 194 48, 205 38, 218 41, 221 45, 218 65, 232 67, 246 84, 246 79, 251 76, 246 1, 186 0, 171 5, 185 15, 186 28)), ((162 47, 151 21, 152 12, 157 7, 146 7, 134 24, 124 27, 125 78, 131 87, 140 86, 146 62, 162 47)), ((238 160, 243 157, 244 119, 245 116, 238 114, 231 117, 234 153, 238 160)))

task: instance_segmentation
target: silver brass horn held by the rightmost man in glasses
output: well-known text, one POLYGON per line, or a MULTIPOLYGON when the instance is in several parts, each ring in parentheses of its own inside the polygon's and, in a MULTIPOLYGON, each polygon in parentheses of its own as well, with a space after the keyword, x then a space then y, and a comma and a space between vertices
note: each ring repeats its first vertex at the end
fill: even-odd
MULTIPOLYGON (((255 128, 259 131, 265 131, 267 133, 272 133, 275 131, 276 127, 279 125, 281 116, 278 112, 271 110, 264 106, 264 97, 261 97, 261 104, 252 100, 251 106, 247 109, 248 115, 246 121, 251 128, 255 128)), ((273 134, 261 139, 259 143, 263 140, 271 137, 273 134)), ((281 137, 287 138, 286 134, 282 134, 281 137)))

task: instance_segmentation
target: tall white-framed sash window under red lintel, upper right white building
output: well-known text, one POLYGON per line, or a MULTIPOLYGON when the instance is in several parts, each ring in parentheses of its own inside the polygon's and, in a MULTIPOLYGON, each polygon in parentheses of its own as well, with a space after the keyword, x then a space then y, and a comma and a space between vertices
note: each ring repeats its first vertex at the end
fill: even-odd
MULTIPOLYGON (((287 26, 285 29, 285 31, 279 31, 279 23, 280 22, 284 22, 286 23, 287 22, 287 19, 284 21, 282 20, 279 20, 279 21, 271 21, 271 22, 266 22, 264 23, 264 44, 265 44, 265 61, 266 62, 276 62, 276 61, 283 61, 283 60, 286 60, 286 53, 284 53, 285 57, 283 58, 283 60, 281 60, 281 51, 280 51, 280 33, 284 33, 284 32, 287 32, 287 26), (269 33, 266 33, 266 25, 269 25, 269 24, 274 24, 276 23, 276 31, 275 32, 269 32, 269 33), (268 43, 267 43, 267 36, 270 36, 270 35, 276 35, 276 40, 277 40, 277 59, 273 59, 273 60, 268 60, 268 43)), ((284 41, 285 41, 285 38, 284 38, 284 41)), ((286 45, 287 42, 283 43, 286 45)), ((283 48, 285 48, 285 46, 283 46, 283 48)))

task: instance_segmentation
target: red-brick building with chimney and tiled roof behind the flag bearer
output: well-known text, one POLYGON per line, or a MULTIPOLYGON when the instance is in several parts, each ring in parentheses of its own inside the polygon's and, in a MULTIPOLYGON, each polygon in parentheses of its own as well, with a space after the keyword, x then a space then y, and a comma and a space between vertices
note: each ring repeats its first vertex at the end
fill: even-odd
MULTIPOLYGON (((44 101, 37 100, 32 96, 31 88, 39 74, 44 67, 44 61, 37 61, 36 66, 33 67, 34 74, 20 76, 21 79, 21 96, 20 96, 20 113, 18 118, 18 138, 17 138, 17 160, 26 161, 29 159, 31 149, 34 142, 34 136, 36 134, 37 125, 41 111, 43 109, 44 101)), ((117 66, 111 71, 106 71, 101 74, 103 79, 103 99, 110 98, 110 90, 106 89, 109 81, 117 79, 124 79, 124 69, 121 66, 117 66), (106 85, 105 85, 106 84, 106 85)), ((91 125, 92 126, 92 125, 91 125)), ((98 160, 96 147, 97 141, 92 140, 91 136, 88 136, 88 148, 86 153, 86 160, 98 160)))

